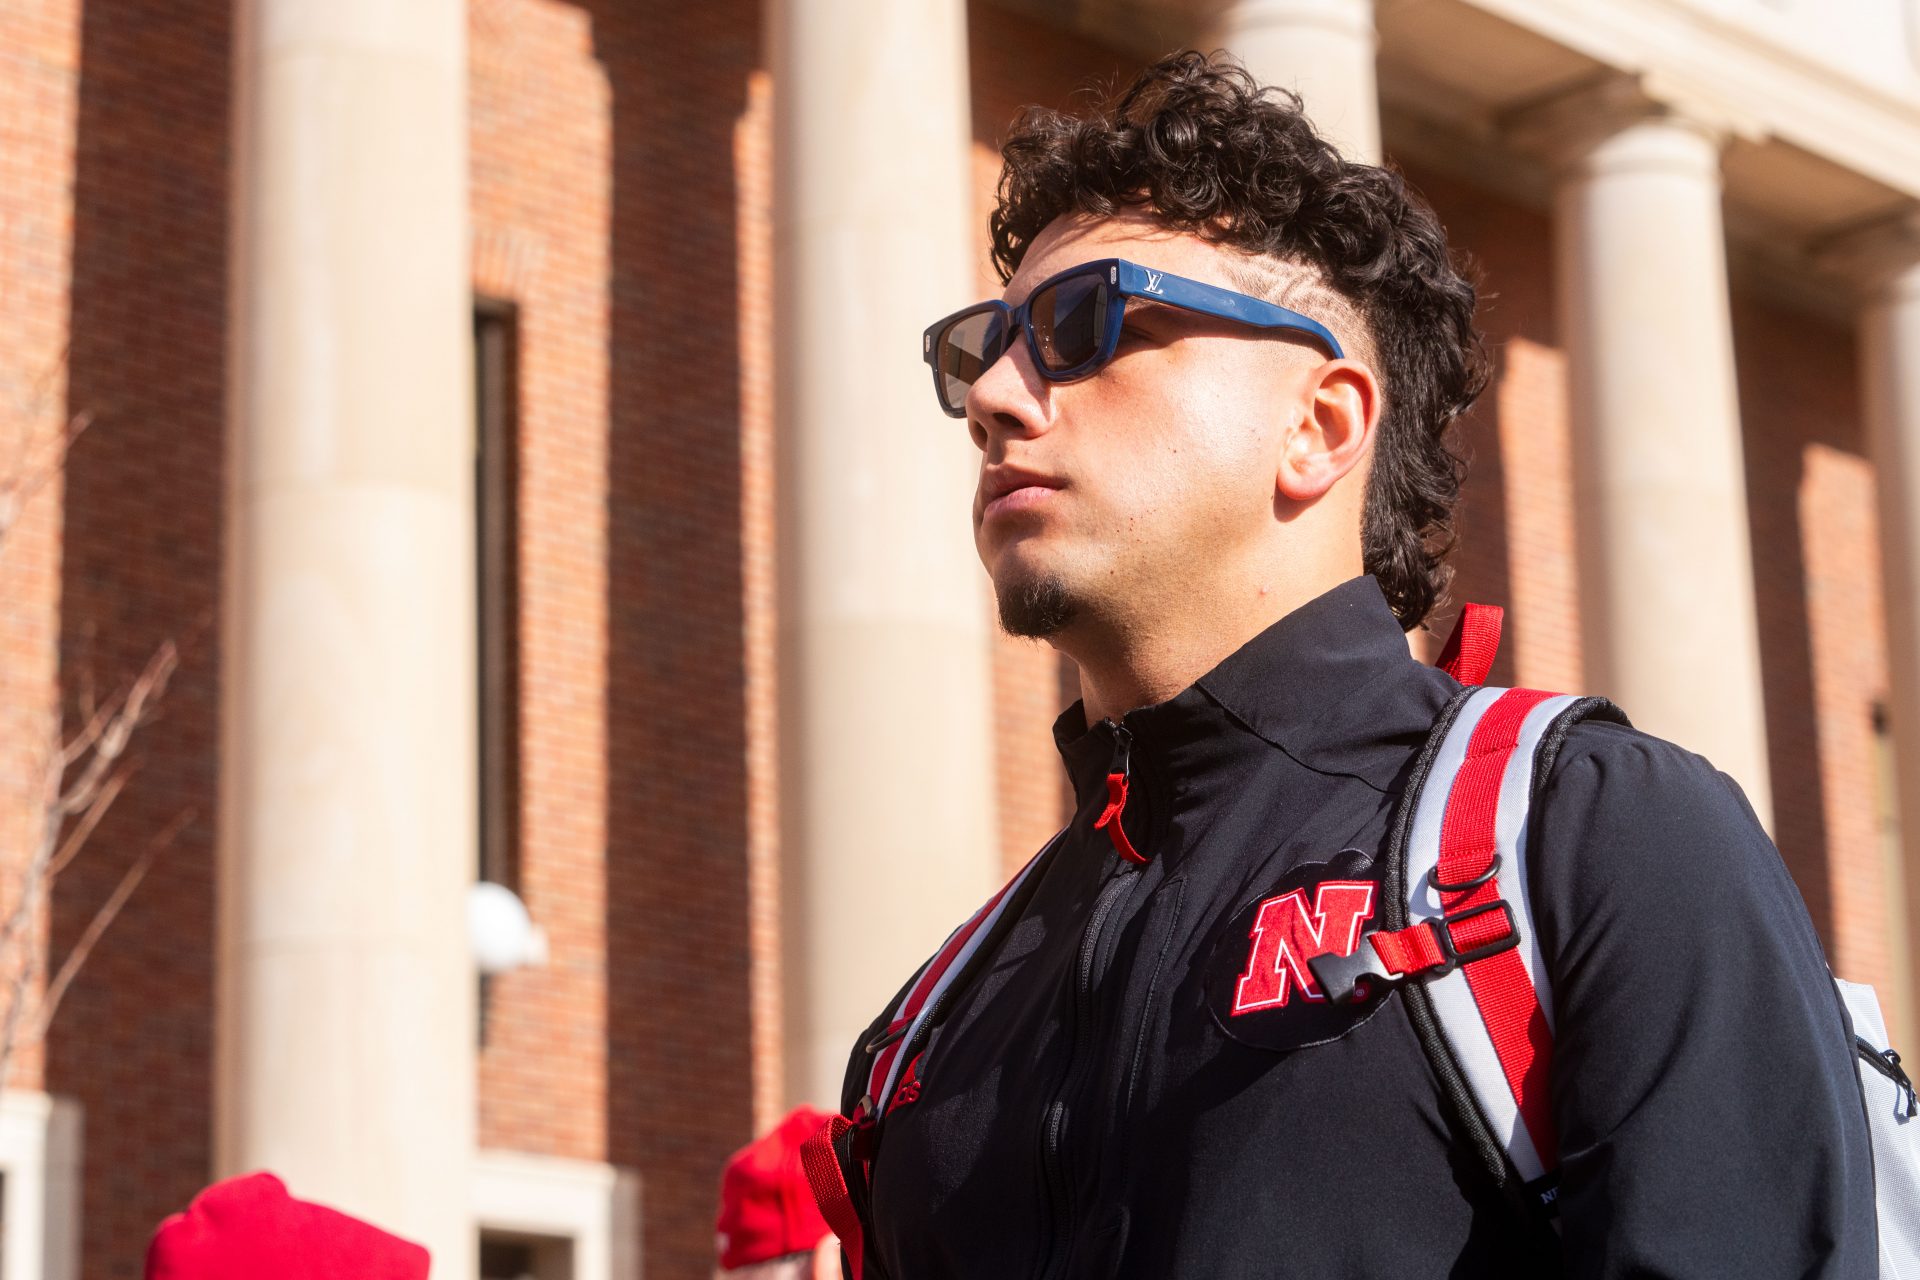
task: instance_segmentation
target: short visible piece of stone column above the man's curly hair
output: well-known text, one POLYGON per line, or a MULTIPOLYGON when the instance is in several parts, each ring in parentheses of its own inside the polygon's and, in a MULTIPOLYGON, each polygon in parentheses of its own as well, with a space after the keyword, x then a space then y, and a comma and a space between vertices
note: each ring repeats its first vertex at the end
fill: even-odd
POLYGON ((1294 90, 1348 157, 1380 163, 1373 0, 1231 0, 1200 48, 1225 48, 1261 84, 1294 90))

